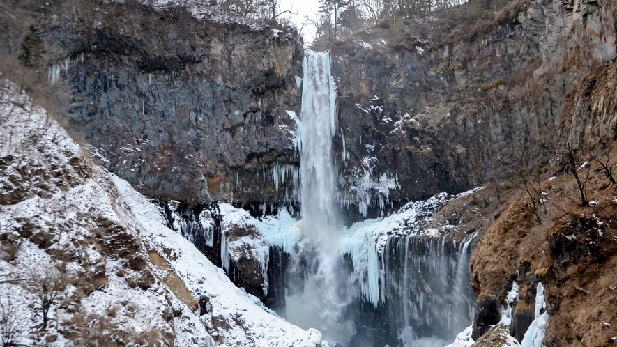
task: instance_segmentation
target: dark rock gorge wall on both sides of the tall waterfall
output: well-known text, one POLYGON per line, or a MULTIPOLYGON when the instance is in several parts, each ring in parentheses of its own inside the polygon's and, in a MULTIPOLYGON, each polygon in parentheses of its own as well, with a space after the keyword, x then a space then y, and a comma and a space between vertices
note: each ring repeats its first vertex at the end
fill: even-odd
MULTIPOLYGON (((68 127, 108 169, 191 206, 229 201, 261 214, 297 202, 296 124, 285 112, 299 111, 295 33, 198 20, 181 7, 33 3, 3 7, 35 24, 44 53, 34 63, 49 82, 66 83, 68 127)), ((615 55, 611 8, 515 1, 489 19, 459 20, 454 11, 403 18, 335 43, 345 214, 376 216, 390 203, 501 179, 501 158, 521 142, 550 154, 597 123, 594 134, 612 134, 611 118, 585 121, 564 107, 615 55)), ((0 45, 17 55, 28 31, 12 22, 0 45)))

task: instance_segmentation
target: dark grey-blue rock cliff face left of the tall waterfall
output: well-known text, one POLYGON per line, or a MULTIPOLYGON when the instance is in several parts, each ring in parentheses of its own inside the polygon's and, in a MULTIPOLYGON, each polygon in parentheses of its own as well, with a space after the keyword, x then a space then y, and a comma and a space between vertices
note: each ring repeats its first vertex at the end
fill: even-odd
POLYGON ((285 113, 299 109, 303 47, 293 31, 135 1, 41 6, 13 11, 36 22, 41 68, 74 96, 68 127, 105 167, 162 199, 284 199, 272 173, 297 162, 285 113))

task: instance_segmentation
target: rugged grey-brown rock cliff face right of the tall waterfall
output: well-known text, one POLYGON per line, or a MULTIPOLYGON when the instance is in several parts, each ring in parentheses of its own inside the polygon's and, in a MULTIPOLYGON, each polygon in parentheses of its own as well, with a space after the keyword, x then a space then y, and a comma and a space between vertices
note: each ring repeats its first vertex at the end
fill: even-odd
POLYGON ((550 157, 564 139, 612 134, 607 116, 570 121, 567 97, 614 59, 614 5, 515 1, 485 14, 494 20, 385 23, 333 45, 337 146, 349 158, 340 179, 352 195, 366 157, 373 177, 397 177, 390 199, 420 199, 503 178, 501 157, 522 142, 550 157))

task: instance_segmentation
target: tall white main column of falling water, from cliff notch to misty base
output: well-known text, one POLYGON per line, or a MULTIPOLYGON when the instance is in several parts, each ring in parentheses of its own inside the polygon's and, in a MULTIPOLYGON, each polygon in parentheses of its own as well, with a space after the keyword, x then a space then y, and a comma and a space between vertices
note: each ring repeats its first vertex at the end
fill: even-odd
MULTIPOLYGON (((330 341, 346 344, 353 334, 344 309, 353 293, 342 270, 337 226, 336 171, 333 163, 336 91, 328 52, 305 51, 300 113, 300 200, 305 239, 291 252, 289 272, 296 290, 286 297, 287 319, 314 327, 330 341), (293 276, 292 276, 293 277, 293 276)), ((291 284, 293 286, 293 284, 291 284)))

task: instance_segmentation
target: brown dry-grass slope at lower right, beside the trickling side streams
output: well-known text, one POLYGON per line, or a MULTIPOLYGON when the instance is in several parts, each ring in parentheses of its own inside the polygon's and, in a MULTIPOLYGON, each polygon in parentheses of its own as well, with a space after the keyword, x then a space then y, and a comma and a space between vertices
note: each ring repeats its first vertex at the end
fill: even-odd
POLYGON ((577 204, 572 175, 544 180, 547 210, 540 222, 513 194, 473 252, 472 282, 479 295, 501 300, 510 290, 508 280, 516 279, 522 304, 531 307, 535 289, 525 280, 535 276, 544 284, 551 316, 546 346, 611 346, 617 336, 617 185, 597 167, 581 173, 587 170, 587 194, 597 205, 577 204))

